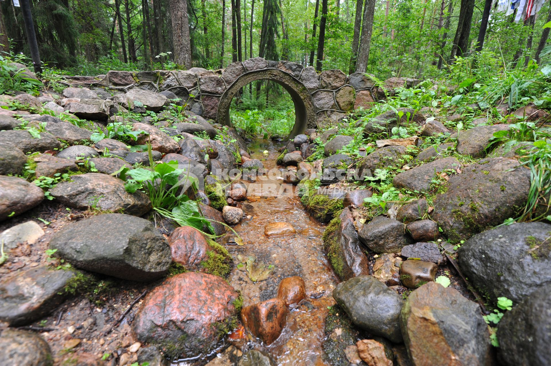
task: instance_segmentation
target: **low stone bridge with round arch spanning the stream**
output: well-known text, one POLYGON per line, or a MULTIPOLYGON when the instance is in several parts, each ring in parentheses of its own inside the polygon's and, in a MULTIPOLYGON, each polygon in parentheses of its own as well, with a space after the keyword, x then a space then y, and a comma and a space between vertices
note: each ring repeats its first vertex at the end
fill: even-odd
POLYGON ((169 91, 187 101, 192 112, 231 126, 231 100, 243 86, 256 80, 272 80, 289 92, 296 111, 291 136, 303 133, 306 128, 334 123, 348 111, 367 107, 384 97, 371 79, 361 73, 347 76, 334 69, 318 74, 314 67, 261 57, 234 62, 219 70, 110 71, 99 84, 125 91, 132 88, 169 91))

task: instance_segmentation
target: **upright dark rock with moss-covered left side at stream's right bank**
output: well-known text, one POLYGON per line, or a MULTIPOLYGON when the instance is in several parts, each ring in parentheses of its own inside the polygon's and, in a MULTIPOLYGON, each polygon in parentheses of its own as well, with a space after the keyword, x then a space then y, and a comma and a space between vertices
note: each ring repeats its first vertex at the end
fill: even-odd
POLYGON ((341 280, 369 274, 369 261, 361 249, 352 211, 348 207, 342 210, 338 220, 323 234, 323 247, 341 280))

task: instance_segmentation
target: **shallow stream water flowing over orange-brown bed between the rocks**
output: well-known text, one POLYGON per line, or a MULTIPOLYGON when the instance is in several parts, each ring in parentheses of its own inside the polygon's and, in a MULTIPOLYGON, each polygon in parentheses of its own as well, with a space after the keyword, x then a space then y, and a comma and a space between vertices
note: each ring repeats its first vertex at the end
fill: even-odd
POLYGON ((333 274, 323 252, 323 225, 311 218, 300 199, 296 186, 283 183, 282 171, 277 169, 279 155, 272 141, 256 140, 249 146, 251 159, 262 160, 270 174, 260 176, 247 185, 247 199, 241 208, 252 217, 234 227, 244 245, 229 247, 237 263, 237 255, 253 255, 256 261, 271 264, 274 270, 267 280, 252 282, 246 273, 234 269, 230 285, 240 290, 244 306, 276 297, 280 280, 300 276, 306 283, 306 299, 287 315, 287 325, 278 340, 269 346, 251 341, 242 351, 255 348, 269 353, 278 365, 325 365, 322 359, 323 324, 328 307, 334 304, 331 296, 337 277, 333 274), (268 154, 263 151, 267 150, 268 154), (289 222, 296 233, 266 237, 264 226, 270 222, 289 222))

